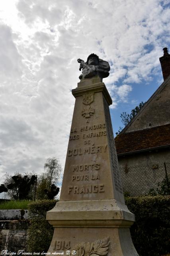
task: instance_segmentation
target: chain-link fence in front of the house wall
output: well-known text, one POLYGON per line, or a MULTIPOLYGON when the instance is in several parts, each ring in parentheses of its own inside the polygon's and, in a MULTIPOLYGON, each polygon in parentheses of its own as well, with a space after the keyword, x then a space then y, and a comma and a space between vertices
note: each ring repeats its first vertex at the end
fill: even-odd
POLYGON ((120 168, 123 192, 130 196, 140 196, 151 189, 158 188, 162 180, 168 180, 170 163, 161 163, 147 166, 128 166, 120 168))

